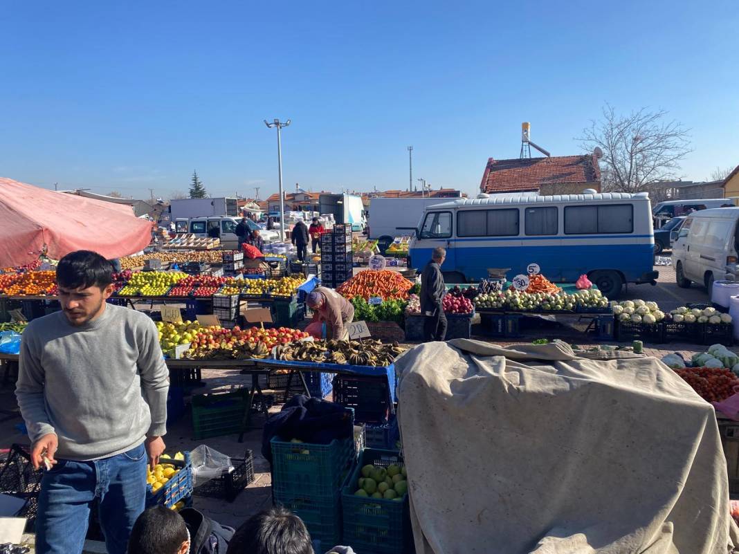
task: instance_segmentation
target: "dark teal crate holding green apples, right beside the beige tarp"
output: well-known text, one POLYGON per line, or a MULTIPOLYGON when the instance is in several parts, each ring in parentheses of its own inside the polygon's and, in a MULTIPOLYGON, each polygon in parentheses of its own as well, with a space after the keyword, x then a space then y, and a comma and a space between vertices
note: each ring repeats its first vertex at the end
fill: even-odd
POLYGON ((344 544, 350 544, 356 552, 367 554, 403 554, 410 541, 408 494, 401 502, 355 496, 358 479, 364 465, 403 467, 398 451, 365 448, 360 454, 354 471, 344 483, 341 506, 344 516, 344 544))

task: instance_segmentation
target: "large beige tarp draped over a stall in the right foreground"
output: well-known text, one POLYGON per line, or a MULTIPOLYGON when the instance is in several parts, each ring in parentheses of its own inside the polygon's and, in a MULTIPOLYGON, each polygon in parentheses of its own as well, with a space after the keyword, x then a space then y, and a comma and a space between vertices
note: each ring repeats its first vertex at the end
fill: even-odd
POLYGON ((712 406, 655 358, 457 339, 396 361, 418 554, 726 554, 712 406))

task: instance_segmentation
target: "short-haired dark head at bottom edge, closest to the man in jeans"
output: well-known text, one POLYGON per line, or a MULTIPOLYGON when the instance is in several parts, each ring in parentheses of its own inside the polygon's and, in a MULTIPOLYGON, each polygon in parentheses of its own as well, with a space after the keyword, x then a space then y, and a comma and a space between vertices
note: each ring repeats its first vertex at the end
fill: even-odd
POLYGON ((149 508, 136 520, 128 554, 185 554, 190 536, 180 514, 164 506, 149 508))

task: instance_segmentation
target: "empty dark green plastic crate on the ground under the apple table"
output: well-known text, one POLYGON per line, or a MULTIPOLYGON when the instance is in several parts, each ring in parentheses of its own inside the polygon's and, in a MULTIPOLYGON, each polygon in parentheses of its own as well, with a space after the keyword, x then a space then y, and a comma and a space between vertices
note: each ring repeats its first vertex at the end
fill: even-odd
POLYGON ((220 437, 242 430, 248 391, 197 394, 192 397, 192 430, 195 439, 220 437))

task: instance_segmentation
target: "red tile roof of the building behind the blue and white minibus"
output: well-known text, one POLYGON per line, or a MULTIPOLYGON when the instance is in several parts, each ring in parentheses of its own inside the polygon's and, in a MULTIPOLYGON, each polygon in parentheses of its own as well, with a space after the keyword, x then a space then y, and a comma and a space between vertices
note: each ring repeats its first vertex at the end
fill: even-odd
POLYGON ((480 191, 538 191, 541 185, 597 181, 600 181, 600 168, 593 154, 516 160, 490 158, 480 182, 480 191))

